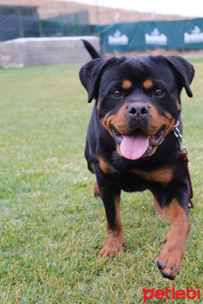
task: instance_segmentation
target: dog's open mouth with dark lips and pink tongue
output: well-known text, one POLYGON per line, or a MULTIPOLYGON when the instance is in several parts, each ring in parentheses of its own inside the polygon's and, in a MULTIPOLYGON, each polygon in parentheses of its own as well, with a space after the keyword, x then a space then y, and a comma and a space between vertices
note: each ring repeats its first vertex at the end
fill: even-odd
POLYGON ((137 160, 144 155, 151 155, 153 148, 163 141, 164 127, 153 136, 147 136, 140 128, 137 128, 129 135, 122 135, 112 128, 112 133, 118 144, 121 154, 129 160, 137 160))

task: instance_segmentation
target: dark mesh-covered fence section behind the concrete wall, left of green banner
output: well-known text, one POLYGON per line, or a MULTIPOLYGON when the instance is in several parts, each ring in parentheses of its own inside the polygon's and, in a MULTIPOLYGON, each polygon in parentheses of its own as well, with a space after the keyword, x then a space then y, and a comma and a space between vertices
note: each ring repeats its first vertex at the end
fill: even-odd
POLYGON ((95 35, 96 26, 89 24, 88 11, 60 15, 46 20, 15 15, 0 15, 0 42, 24 37, 57 37, 95 35))

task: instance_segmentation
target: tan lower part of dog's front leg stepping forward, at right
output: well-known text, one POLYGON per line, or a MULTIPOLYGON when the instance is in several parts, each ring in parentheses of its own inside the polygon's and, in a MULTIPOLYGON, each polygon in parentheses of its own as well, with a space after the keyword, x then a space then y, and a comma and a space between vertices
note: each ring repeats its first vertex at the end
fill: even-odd
POLYGON ((161 241, 163 249, 158 257, 157 266, 164 278, 175 280, 179 274, 185 251, 185 244, 190 231, 188 204, 181 206, 177 199, 173 199, 163 208, 163 216, 171 223, 171 230, 161 241))

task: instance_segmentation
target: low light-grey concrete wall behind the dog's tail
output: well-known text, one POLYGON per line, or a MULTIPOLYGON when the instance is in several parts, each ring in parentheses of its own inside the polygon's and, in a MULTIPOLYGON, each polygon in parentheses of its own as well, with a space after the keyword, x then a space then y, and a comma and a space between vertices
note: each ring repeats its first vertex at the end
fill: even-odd
POLYGON ((15 39, 0 43, 0 67, 87 62, 91 57, 81 38, 100 52, 94 36, 15 39))

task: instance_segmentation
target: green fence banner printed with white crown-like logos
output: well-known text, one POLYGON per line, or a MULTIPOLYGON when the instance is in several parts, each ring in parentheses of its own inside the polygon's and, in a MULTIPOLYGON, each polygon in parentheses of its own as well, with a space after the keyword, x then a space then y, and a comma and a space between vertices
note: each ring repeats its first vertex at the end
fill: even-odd
POLYGON ((181 21, 142 21, 101 27, 102 52, 203 49, 203 18, 181 21))

